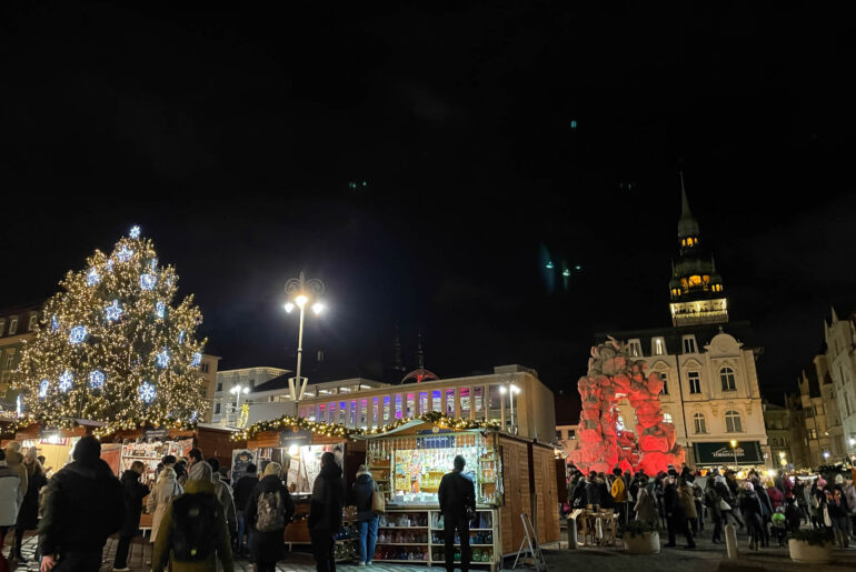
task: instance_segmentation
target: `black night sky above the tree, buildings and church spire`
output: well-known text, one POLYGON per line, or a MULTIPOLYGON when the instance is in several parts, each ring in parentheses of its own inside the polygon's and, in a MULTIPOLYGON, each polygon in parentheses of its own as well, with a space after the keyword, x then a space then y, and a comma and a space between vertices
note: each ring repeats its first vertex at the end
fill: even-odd
POLYGON ((856 309, 848 14, 67 4, 0 7, 2 305, 140 224, 221 368, 292 367, 305 269, 316 379, 377 378, 398 322, 410 368, 421 329, 440 377, 517 362, 575 391, 595 332, 669 323, 683 170, 772 399, 856 309), (581 267, 567 289, 545 252, 581 267))

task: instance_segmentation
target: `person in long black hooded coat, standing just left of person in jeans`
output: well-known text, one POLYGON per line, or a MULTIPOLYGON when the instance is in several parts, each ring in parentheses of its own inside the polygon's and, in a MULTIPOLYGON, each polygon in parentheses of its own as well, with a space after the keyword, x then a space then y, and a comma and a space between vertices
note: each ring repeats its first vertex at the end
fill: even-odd
POLYGON ((328 451, 321 455, 321 471, 312 484, 312 500, 309 505, 309 535, 318 572, 336 570, 334 535, 341 528, 342 506, 345 490, 341 485, 341 469, 336 462, 336 456, 328 451))

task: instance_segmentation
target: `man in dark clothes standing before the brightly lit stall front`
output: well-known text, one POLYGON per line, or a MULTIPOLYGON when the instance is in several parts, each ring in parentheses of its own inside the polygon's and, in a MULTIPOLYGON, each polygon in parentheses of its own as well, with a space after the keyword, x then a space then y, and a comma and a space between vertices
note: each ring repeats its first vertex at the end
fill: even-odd
POLYGON ((444 520, 444 540, 446 543, 446 571, 455 571, 455 532, 460 538, 460 569, 469 571, 469 521, 476 513, 476 488, 464 475, 466 461, 455 456, 455 470, 442 475, 437 496, 444 520))

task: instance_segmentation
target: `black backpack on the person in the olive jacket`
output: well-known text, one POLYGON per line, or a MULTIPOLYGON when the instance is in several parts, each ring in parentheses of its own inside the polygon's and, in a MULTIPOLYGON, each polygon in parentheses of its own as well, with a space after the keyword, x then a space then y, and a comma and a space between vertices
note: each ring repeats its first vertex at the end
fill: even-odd
POLYGON ((220 501, 212 494, 182 494, 172 501, 172 551, 179 562, 199 562, 215 552, 220 501))

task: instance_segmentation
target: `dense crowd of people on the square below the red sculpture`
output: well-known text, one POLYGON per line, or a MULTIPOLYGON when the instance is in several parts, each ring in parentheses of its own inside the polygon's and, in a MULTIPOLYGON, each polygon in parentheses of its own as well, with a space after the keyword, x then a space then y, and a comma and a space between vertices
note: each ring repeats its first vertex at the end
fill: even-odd
POLYGON ((569 466, 568 503, 564 515, 575 509, 611 509, 623 525, 643 521, 665 529, 666 548, 676 546, 678 535, 687 549, 711 528, 710 541, 723 544, 724 526, 734 523, 745 533, 750 550, 779 546, 787 533, 802 526, 826 531, 839 548, 856 540, 856 488, 845 474, 797 476, 749 470, 745 479, 727 468, 711 468, 703 476, 686 463, 678 471, 647 475, 615 468, 611 474, 584 473, 569 466))

